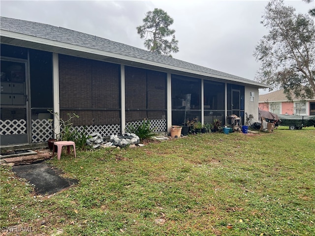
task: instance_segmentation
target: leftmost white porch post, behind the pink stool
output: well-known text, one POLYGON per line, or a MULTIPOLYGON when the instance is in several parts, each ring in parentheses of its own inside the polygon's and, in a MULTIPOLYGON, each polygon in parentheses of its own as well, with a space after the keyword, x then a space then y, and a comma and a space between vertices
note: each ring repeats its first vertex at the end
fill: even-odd
MULTIPOLYGON (((53 101, 54 101, 54 113, 60 116, 60 104, 59 104, 59 61, 58 53, 53 53, 53 101)), ((59 116, 54 116, 54 139, 56 134, 60 133, 59 116)))

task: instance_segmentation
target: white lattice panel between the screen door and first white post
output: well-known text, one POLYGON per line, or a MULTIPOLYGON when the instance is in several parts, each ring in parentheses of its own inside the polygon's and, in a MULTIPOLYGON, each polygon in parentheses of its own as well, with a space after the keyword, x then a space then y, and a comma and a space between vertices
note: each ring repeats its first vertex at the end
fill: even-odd
POLYGON ((53 138, 53 125, 48 119, 32 119, 32 143, 46 142, 53 138))

